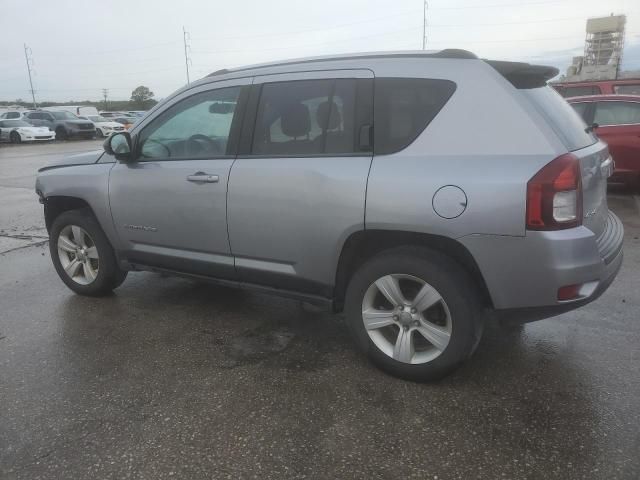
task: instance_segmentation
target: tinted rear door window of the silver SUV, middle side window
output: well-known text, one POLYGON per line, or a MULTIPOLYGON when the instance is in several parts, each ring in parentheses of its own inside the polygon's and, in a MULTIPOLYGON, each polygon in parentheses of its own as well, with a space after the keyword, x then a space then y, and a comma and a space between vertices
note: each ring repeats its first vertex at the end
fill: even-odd
POLYGON ((253 135, 256 155, 356 151, 356 81, 298 80, 262 86, 253 135))

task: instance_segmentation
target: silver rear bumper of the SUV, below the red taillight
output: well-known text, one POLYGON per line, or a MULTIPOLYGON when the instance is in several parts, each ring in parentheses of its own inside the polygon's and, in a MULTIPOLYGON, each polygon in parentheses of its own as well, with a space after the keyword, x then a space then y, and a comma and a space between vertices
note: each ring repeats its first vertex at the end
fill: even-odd
POLYGON ((469 235, 459 241, 475 258, 497 311, 540 319, 600 296, 620 270, 623 236, 622 223, 610 212, 598 238, 581 226, 528 231, 524 237, 469 235), (558 301, 560 287, 576 284, 584 285, 578 298, 558 301))

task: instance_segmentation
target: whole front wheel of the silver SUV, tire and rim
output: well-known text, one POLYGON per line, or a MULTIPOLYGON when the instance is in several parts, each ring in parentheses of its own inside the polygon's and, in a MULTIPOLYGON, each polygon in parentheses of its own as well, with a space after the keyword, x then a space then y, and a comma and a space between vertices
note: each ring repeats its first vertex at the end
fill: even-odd
POLYGON ((62 281, 80 295, 100 296, 118 287, 127 272, 89 210, 71 210, 51 227, 49 250, 62 281))

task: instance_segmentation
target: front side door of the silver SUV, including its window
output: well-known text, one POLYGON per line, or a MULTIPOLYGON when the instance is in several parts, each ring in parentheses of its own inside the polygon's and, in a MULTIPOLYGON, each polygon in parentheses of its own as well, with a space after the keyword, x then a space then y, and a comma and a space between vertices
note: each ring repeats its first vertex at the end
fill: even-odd
POLYGON ((180 95, 136 129, 136 160, 111 170, 111 213, 131 263, 235 277, 227 181, 250 79, 230 83, 180 95))

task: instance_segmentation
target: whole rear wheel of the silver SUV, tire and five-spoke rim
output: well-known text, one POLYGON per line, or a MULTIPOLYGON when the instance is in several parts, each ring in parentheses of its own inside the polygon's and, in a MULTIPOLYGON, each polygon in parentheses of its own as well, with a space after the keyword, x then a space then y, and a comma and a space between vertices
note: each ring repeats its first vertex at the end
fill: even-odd
POLYGON ((403 247, 354 274, 345 299, 356 343, 386 372, 437 380, 478 345, 482 307, 468 273, 445 255, 403 247))

